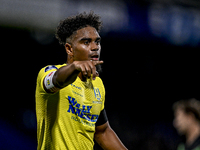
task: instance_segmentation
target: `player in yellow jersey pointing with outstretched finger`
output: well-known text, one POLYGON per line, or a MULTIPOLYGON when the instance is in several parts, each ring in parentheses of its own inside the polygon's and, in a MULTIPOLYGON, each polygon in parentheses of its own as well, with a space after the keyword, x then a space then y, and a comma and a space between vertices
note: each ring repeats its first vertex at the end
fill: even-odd
POLYGON ((67 63, 42 68, 36 87, 38 150, 125 150, 104 109, 105 89, 98 77, 100 17, 82 13, 60 22, 56 37, 67 63))

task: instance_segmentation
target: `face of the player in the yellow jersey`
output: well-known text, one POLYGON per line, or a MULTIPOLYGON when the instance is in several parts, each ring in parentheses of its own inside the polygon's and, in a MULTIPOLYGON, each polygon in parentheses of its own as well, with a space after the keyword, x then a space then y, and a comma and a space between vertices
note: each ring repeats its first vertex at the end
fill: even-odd
POLYGON ((85 27, 77 30, 71 38, 71 44, 66 43, 65 49, 71 56, 71 61, 97 61, 100 58, 100 36, 95 28, 85 27))

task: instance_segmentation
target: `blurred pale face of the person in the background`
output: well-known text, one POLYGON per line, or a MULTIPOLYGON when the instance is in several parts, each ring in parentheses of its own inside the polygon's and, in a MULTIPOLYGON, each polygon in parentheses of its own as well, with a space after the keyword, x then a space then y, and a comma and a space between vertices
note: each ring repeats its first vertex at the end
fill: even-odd
POLYGON ((180 135, 185 135, 190 126, 191 116, 184 112, 183 109, 178 108, 174 112, 173 125, 180 135))

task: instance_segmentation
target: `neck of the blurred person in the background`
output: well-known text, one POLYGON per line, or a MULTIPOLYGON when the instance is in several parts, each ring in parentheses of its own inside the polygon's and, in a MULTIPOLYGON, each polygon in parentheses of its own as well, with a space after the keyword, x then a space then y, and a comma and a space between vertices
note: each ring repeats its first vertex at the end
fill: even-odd
POLYGON ((186 144, 192 145, 194 141, 200 136, 200 125, 192 124, 191 128, 189 128, 188 133, 186 134, 186 144))

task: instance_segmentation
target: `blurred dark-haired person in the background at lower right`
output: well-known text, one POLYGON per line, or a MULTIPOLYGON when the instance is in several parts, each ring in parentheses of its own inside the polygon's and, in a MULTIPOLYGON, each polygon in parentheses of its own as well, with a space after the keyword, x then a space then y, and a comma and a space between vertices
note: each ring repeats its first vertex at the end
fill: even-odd
POLYGON ((173 125, 185 137, 177 150, 200 150, 200 101, 181 100, 173 105, 173 125))

